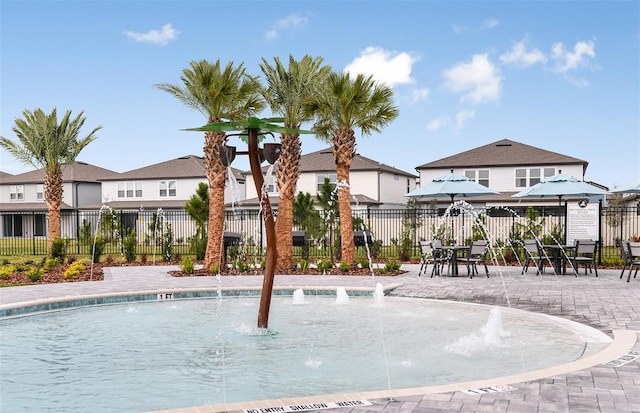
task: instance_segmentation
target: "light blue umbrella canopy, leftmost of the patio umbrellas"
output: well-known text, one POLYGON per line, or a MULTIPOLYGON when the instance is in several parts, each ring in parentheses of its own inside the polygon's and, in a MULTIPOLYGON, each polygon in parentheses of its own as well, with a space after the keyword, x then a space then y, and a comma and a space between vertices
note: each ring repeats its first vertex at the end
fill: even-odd
POLYGON ((433 179, 430 183, 422 186, 405 196, 408 198, 440 198, 448 196, 453 202, 454 197, 469 197, 481 195, 497 195, 492 189, 471 181, 464 175, 451 173, 433 179))

